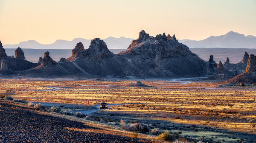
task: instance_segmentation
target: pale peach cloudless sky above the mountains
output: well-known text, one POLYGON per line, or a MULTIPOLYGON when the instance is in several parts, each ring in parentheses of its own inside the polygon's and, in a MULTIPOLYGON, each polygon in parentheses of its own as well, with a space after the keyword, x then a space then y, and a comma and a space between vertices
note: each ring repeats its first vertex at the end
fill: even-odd
POLYGON ((151 36, 202 40, 229 31, 256 36, 256 0, 0 0, 3 44, 57 39, 137 39, 151 36))

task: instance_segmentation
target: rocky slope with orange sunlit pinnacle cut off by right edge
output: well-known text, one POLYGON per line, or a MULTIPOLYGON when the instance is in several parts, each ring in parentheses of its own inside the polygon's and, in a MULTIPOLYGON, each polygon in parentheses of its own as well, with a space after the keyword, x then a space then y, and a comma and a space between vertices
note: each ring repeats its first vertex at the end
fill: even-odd
MULTIPOLYGON (((246 63, 246 62, 245 62, 246 63)), ((256 84, 256 56, 250 55, 247 62, 246 71, 233 77, 224 83, 236 82, 241 84, 256 84)))

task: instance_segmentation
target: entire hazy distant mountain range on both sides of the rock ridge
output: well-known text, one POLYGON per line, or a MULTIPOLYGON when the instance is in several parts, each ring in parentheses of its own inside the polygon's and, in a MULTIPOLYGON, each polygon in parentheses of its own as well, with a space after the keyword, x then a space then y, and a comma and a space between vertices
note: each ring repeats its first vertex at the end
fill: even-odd
MULTIPOLYGON (((92 39, 76 38, 72 41, 56 40, 52 44, 40 44, 35 40, 20 42, 15 45, 3 45, 3 48, 32 48, 32 49, 73 49, 76 43, 82 42, 84 48, 88 48, 92 39)), ((103 39, 109 49, 127 49, 131 44, 131 38, 108 37, 103 39)), ((221 36, 210 36, 204 40, 183 39, 178 40, 189 48, 256 48, 256 36, 239 34, 233 31, 221 36)))

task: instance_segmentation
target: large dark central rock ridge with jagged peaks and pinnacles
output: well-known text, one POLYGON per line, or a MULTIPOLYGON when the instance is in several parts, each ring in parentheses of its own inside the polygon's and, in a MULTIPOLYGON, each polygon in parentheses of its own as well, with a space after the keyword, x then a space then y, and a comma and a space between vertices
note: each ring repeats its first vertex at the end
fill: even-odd
POLYGON ((179 43, 175 35, 166 36, 163 33, 153 37, 143 30, 127 50, 117 55, 108 50, 103 40, 95 38, 86 50, 79 42, 67 62, 61 60, 57 63, 46 52, 40 66, 20 73, 37 76, 176 78, 207 75, 207 66, 186 45, 179 43))

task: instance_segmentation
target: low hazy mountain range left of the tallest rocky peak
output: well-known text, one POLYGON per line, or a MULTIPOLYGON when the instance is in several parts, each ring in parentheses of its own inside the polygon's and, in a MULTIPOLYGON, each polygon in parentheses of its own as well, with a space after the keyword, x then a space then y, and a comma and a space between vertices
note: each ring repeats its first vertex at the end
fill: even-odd
MULTIPOLYGON (((131 38, 115 38, 115 37, 108 37, 106 39, 103 39, 104 42, 108 45, 109 49, 122 49, 122 48, 128 48, 128 46, 131 44, 132 40, 131 38)), ((3 42, 3 41, 2 41, 3 42)), ((67 40, 56 40, 52 44, 40 44, 36 42, 35 40, 29 40, 26 42, 20 42, 19 44, 15 45, 3 45, 3 48, 30 48, 30 49, 73 49, 75 48, 76 44, 82 42, 84 45, 84 48, 89 48, 91 39, 83 39, 83 38, 75 38, 72 41, 67 40)), ((4 43, 3 43, 4 44, 4 43)))

